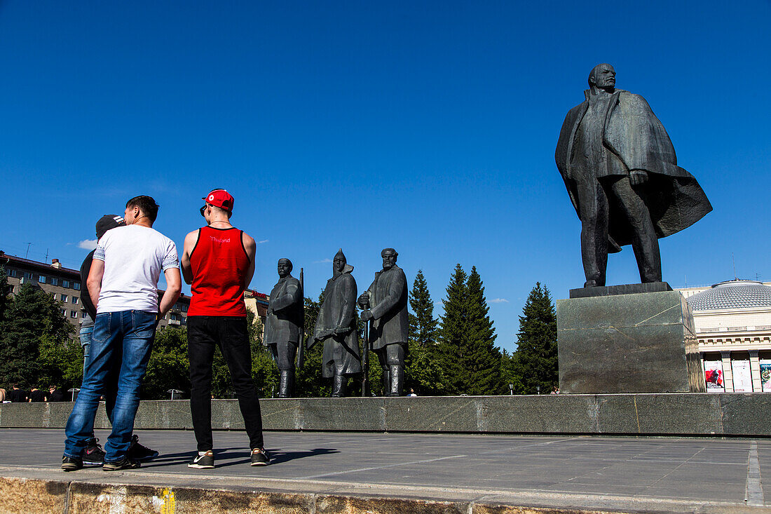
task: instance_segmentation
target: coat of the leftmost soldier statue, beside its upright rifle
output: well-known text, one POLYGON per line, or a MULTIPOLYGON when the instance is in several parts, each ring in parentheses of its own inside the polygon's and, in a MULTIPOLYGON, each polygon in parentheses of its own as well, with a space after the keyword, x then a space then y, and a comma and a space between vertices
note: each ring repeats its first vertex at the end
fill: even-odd
POLYGON ((293 276, 279 279, 273 286, 265 318, 263 344, 295 343, 301 340, 303 298, 300 281, 293 276))

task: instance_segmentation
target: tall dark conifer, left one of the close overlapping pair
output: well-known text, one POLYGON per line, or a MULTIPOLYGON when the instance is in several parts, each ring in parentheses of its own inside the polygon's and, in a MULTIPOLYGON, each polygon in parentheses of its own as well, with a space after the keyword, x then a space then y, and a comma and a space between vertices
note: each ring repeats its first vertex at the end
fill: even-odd
POLYGON ((466 320, 468 318, 466 296, 468 286, 466 272, 460 264, 455 266, 447 285, 446 299, 442 300, 444 313, 439 320, 439 353, 444 370, 445 391, 448 394, 467 393, 469 374, 466 370, 466 320))

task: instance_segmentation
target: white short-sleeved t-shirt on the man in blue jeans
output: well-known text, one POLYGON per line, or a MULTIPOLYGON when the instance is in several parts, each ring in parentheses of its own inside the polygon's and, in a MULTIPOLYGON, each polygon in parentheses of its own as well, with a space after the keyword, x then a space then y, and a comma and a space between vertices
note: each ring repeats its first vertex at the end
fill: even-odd
POLYGON ((180 265, 177 245, 157 230, 141 225, 107 232, 99 239, 93 258, 104 261, 96 313, 157 313, 160 272, 180 265))

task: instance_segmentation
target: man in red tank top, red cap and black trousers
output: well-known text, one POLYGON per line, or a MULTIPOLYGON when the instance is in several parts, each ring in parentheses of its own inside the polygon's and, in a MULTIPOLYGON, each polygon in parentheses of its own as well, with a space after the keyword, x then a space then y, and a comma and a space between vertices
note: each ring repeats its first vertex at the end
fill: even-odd
POLYGON ((214 189, 203 200, 200 214, 207 226, 185 236, 182 275, 193 293, 187 310, 187 353, 190 358, 190 413, 198 453, 190 468, 214 468, 211 435, 211 364, 220 347, 231 371, 244 417, 251 465, 268 465, 262 439, 260 399, 251 378, 244 289, 254 276, 256 245, 251 236, 231 225, 234 198, 214 189))

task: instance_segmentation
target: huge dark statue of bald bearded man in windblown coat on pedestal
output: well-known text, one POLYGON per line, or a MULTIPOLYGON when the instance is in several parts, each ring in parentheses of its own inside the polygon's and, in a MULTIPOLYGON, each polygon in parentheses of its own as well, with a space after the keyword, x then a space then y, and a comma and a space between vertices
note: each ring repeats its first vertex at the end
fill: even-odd
POLYGON ((604 286, 608 252, 630 245, 641 282, 662 282, 658 238, 709 211, 704 191, 677 165, 675 147, 642 96, 615 89, 609 64, 594 66, 586 100, 567 113, 555 159, 581 219, 584 287, 604 286))

